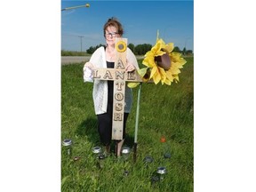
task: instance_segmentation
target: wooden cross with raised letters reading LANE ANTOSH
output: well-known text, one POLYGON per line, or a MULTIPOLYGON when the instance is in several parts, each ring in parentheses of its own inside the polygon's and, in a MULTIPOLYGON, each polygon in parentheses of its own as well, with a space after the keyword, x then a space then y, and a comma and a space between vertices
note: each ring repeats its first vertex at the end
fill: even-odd
POLYGON ((116 38, 115 68, 94 68, 93 78, 114 81, 112 140, 123 140, 126 82, 142 82, 136 70, 126 72, 127 38, 116 38))

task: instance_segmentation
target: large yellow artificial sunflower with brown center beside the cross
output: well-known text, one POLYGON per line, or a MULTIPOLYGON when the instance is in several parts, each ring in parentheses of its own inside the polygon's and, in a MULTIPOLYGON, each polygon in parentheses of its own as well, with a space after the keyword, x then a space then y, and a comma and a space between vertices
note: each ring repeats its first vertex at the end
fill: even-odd
MULTIPOLYGON (((148 51, 142 64, 146 68, 140 68, 140 74, 144 82, 153 80, 155 84, 161 82, 162 84, 171 85, 172 82, 179 82, 180 68, 187 62, 181 57, 180 52, 172 52, 174 48, 173 43, 165 44, 162 38, 156 37, 156 44, 148 51)), ((140 83, 129 83, 131 88, 136 87, 140 83)))

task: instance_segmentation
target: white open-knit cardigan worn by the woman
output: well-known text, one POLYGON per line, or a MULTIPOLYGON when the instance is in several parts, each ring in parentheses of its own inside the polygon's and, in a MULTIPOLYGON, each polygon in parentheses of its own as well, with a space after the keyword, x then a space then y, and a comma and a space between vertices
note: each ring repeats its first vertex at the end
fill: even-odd
MULTIPOLYGON (((126 51, 126 58, 135 68, 139 68, 135 55, 128 47, 126 51)), ((95 68, 107 68, 106 54, 103 46, 92 53, 92 57, 89 62, 91 62, 95 68)), ((92 98, 95 114, 100 115, 106 113, 108 106, 108 81, 94 80, 92 98)), ((130 113, 132 108, 132 89, 127 87, 127 84, 125 88, 124 102, 124 112, 130 113)))

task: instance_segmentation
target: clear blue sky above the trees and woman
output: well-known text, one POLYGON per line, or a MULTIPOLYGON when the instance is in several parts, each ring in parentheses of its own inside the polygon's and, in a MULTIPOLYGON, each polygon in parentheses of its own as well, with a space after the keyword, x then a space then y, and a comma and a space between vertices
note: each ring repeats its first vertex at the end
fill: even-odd
POLYGON ((194 50, 193 1, 61 1, 61 9, 83 4, 61 12, 61 49, 82 51, 105 44, 103 25, 116 17, 124 26, 128 44, 155 44, 156 31, 165 43, 194 50), (80 37, 83 36, 83 37, 80 37))

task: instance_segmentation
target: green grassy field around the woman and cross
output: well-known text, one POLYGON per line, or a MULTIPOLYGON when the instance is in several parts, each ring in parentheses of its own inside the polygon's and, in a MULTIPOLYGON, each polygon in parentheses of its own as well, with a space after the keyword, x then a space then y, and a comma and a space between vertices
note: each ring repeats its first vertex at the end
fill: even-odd
MULTIPOLYGON (((83 63, 61 67, 61 140, 73 141, 71 156, 65 147, 61 148, 62 191, 193 191, 194 58, 186 60, 179 84, 142 84, 137 161, 133 162, 132 153, 127 161, 108 156, 101 168, 92 154, 92 148, 100 146, 92 84, 83 82, 83 63), (162 136, 165 143, 160 142, 162 136), (171 152, 171 158, 164 158, 166 151, 171 152), (75 156, 79 160, 75 161, 75 156), (152 156, 153 163, 145 164, 146 156, 152 156), (153 181, 158 179, 159 166, 164 166, 167 173, 163 180, 153 181)), ((124 141, 124 146, 130 148, 134 140, 137 92, 138 88, 134 88, 124 141)))

